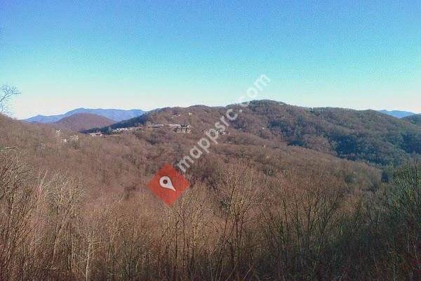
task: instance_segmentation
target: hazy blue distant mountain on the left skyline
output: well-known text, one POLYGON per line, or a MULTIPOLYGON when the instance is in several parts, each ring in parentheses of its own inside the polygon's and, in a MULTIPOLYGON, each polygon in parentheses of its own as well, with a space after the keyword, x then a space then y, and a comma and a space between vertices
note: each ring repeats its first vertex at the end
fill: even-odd
POLYGON ((114 110, 114 109, 105 110, 101 108, 98 108, 98 109, 76 108, 76 110, 71 110, 62 115, 51 115, 51 116, 36 115, 34 117, 25 119, 23 121, 29 122, 29 123, 49 124, 49 123, 58 122, 60 119, 75 115, 76 113, 91 113, 94 115, 100 115, 108 119, 112 119, 115 122, 121 122, 123 120, 138 117, 145 112, 143 110, 114 110))

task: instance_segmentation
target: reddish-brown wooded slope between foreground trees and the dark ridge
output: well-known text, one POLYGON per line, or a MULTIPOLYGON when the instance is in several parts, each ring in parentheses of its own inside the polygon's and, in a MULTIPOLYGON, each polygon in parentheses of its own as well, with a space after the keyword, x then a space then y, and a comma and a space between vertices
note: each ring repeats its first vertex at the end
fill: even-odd
MULTIPOLYGON (((79 134, 79 141, 64 143, 74 132, 62 130, 58 135, 51 125, 25 124, 4 116, 0 116, 0 128, 0 147, 15 147, 39 169, 83 178, 91 190, 143 190, 164 163, 176 164, 197 142, 194 133, 145 130, 104 138, 79 134)), ((274 179, 289 173, 310 175, 321 167, 362 189, 373 188, 380 178, 380 171, 366 164, 294 146, 274 148, 270 141, 250 133, 233 131, 220 141, 192 165, 187 173, 190 181, 215 185, 224 167, 238 159, 250 162, 261 176, 274 179)))

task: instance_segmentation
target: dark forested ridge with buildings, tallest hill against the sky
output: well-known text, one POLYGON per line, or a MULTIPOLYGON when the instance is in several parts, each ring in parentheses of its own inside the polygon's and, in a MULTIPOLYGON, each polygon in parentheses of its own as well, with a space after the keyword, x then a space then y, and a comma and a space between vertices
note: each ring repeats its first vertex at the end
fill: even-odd
MULTIPOLYGON (((254 138, 272 147, 286 143, 380 165, 401 164, 411 155, 421 153, 420 126, 374 110, 296 107, 272 100, 255 100, 248 107, 236 110, 240 109, 243 112, 228 129, 239 133, 228 138, 232 143, 254 138)), ((111 128, 147 122, 190 124, 198 137, 203 130, 213 128, 226 112, 227 107, 168 107, 114 124, 111 128)))

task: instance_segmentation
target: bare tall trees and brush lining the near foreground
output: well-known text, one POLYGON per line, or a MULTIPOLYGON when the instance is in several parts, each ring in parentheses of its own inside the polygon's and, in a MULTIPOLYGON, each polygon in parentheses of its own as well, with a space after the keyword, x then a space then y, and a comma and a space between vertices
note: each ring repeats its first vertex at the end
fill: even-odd
POLYGON ((247 162, 173 208, 88 196, 0 152, 0 280, 417 280, 421 162, 373 192, 320 170, 265 181, 247 162))

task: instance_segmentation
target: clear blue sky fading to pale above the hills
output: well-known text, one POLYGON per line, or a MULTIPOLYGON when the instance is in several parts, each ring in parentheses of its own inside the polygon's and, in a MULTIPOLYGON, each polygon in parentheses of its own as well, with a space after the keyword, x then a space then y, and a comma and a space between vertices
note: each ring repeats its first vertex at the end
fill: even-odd
POLYGON ((17 118, 227 105, 260 74, 261 99, 421 112, 419 0, 0 0, 0 30, 17 118))

